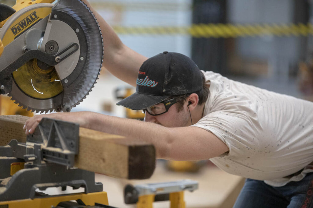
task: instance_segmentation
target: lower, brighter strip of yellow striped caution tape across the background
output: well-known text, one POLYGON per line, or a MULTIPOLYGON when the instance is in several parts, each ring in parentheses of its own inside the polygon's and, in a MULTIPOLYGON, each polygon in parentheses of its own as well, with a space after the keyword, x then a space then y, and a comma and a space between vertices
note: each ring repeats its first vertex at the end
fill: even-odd
POLYGON ((236 38, 246 36, 308 36, 313 25, 308 24, 194 24, 190 27, 113 27, 127 35, 191 35, 196 38, 236 38))

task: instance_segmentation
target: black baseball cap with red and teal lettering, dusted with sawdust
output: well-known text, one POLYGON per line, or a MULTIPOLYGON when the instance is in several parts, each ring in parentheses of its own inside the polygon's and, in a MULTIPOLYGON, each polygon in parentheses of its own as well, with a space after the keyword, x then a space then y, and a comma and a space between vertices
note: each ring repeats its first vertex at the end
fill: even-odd
POLYGON ((117 105, 142 110, 158 104, 170 96, 183 95, 202 89, 202 72, 189 57, 164 51, 141 65, 136 92, 117 105))

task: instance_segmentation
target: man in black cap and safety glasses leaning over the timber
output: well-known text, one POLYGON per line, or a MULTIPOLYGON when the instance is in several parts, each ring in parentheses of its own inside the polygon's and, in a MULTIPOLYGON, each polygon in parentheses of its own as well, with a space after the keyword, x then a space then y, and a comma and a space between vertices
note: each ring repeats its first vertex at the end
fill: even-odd
POLYGON ((95 15, 105 31, 105 68, 136 86, 118 104, 142 109, 146 122, 93 112, 36 115, 25 124, 27 134, 42 117, 76 122, 153 143, 158 158, 211 158, 250 178, 236 208, 312 207, 313 103, 200 71, 182 54, 164 51, 147 59, 95 15))

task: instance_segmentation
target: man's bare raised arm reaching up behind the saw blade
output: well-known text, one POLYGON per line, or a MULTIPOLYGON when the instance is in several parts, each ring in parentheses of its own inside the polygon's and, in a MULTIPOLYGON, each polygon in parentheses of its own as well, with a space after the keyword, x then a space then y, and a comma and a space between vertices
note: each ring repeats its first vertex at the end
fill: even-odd
POLYGON ((125 46, 112 27, 91 7, 90 3, 87 0, 83 1, 95 14, 100 25, 104 42, 103 66, 117 78, 136 86, 139 68, 147 58, 125 46))

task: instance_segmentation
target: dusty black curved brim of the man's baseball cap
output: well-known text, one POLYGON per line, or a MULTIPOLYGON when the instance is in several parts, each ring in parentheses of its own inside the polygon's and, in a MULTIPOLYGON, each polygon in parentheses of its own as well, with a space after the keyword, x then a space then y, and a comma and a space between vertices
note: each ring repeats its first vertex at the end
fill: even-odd
POLYGON ((120 102, 116 104, 122 105, 132 110, 142 110, 142 109, 149 108, 155 104, 158 104, 169 97, 170 95, 154 96, 154 95, 148 95, 148 94, 139 94, 135 92, 131 96, 128 96, 127 98, 122 99, 120 102))

